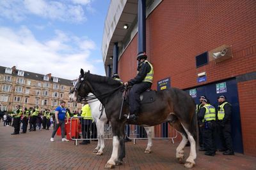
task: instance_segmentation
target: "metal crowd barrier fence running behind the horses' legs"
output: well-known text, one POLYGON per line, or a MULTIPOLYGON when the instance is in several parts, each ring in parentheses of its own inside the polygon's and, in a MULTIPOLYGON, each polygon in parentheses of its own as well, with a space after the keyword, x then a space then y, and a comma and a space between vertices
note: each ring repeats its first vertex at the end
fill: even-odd
MULTIPOLYGON (((82 140, 97 140, 97 127, 95 122, 88 125, 81 125, 81 120, 84 117, 71 117, 66 122, 67 139, 75 141, 82 140), (86 131, 89 134, 89 138, 83 138, 82 131, 86 131)), ((170 127, 167 123, 150 127, 152 132, 152 139, 173 139, 177 138, 178 133, 175 129, 170 127)), ((57 131, 57 135, 61 134, 60 128, 57 131), (59 131, 59 132, 58 132, 59 131)), ((148 139, 147 132, 140 125, 125 125, 125 134, 133 140, 134 145, 137 139, 148 139)), ((112 128, 110 123, 104 125, 104 139, 112 139, 112 128)))

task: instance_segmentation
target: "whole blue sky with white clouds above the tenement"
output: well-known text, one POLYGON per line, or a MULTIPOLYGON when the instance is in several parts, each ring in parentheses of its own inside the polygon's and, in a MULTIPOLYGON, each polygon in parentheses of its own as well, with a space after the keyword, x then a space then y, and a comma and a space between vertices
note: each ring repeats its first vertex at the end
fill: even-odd
POLYGON ((105 75, 101 44, 111 0, 1 0, 0 66, 74 80, 105 75))

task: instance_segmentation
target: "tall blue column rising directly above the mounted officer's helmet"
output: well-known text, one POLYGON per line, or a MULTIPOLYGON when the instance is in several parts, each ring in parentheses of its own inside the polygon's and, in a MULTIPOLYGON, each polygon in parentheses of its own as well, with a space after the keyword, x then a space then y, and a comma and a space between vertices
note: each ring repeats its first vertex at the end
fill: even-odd
POLYGON ((146 52, 146 0, 138 0, 138 53, 146 52))

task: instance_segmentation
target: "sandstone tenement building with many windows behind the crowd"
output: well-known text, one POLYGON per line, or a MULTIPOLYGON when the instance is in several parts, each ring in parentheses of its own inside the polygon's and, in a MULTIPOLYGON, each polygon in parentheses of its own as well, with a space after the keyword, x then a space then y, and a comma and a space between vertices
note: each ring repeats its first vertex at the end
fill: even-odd
POLYGON ((70 111, 80 111, 81 104, 68 101, 68 92, 74 80, 58 78, 50 74, 31 73, 15 66, 0 66, 1 110, 13 111, 19 104, 23 108, 39 107, 54 110, 60 101, 66 101, 70 111))

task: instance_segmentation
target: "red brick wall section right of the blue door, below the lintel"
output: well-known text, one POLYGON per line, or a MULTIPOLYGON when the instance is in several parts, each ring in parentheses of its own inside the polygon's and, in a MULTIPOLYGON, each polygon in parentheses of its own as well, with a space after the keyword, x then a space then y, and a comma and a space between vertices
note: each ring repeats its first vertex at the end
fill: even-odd
POLYGON ((241 112, 244 153, 256 156, 256 80, 237 84, 241 112))

